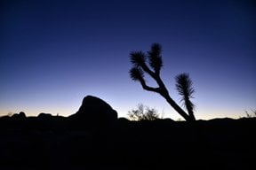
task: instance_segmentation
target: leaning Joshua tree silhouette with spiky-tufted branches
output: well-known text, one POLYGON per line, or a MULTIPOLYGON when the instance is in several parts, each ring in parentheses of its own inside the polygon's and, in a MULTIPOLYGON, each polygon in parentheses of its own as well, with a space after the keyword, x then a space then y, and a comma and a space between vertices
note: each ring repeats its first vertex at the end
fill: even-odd
POLYGON ((176 76, 176 88, 179 91, 179 94, 182 96, 181 101, 184 102, 184 106, 187 108, 188 113, 185 112, 180 105, 170 97, 168 89, 166 89, 164 82, 160 77, 160 70, 163 67, 162 60, 162 48, 158 43, 153 43, 151 50, 148 53, 143 51, 132 51, 130 53, 130 58, 132 62, 132 69, 130 70, 130 76, 133 81, 140 81, 140 84, 143 89, 148 91, 156 92, 160 94, 165 100, 172 106, 172 108, 180 113, 180 115, 187 121, 194 121, 195 116, 193 109, 195 105, 190 101, 190 97, 195 92, 192 88, 192 81, 189 79, 188 73, 181 73, 176 76), (148 66, 149 64, 149 66, 148 66), (158 87, 150 87, 145 81, 144 74, 148 75, 156 81, 158 87))

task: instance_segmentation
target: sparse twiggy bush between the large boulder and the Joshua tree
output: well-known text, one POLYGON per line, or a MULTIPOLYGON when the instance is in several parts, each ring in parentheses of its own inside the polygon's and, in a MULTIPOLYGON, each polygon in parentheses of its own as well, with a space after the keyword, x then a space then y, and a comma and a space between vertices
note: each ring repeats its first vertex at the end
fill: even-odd
POLYGON ((129 120, 157 120, 160 119, 156 109, 149 108, 144 104, 138 104, 137 109, 128 112, 129 120))

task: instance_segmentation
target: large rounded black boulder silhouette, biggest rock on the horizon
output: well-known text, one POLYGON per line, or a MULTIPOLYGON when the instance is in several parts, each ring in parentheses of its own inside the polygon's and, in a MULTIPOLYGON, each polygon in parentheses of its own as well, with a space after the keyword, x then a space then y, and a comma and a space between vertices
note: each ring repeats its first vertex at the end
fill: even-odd
POLYGON ((87 96, 79 110, 69 118, 79 127, 109 127, 116 123, 117 112, 99 97, 87 96))

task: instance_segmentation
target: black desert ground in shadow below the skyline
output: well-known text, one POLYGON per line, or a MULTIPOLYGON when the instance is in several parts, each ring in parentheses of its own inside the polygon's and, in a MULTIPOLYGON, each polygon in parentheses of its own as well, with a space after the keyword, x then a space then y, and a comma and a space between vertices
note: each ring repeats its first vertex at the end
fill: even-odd
POLYGON ((255 118, 118 119, 88 128, 60 116, 4 117, 0 169, 254 169, 255 130, 255 118))

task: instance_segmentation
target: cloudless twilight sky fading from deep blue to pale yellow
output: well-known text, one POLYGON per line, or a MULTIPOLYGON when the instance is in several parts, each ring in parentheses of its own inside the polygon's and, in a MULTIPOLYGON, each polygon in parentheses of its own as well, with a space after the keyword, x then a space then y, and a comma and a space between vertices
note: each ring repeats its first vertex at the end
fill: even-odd
MULTIPOLYGON (((68 116, 87 95, 126 117, 137 104, 180 118, 130 79, 129 53, 163 46, 162 77, 189 73, 196 119, 238 118, 256 108, 253 1, 4 0, 0 4, 0 115, 68 116)), ((154 82, 148 79, 148 83, 154 82)))

